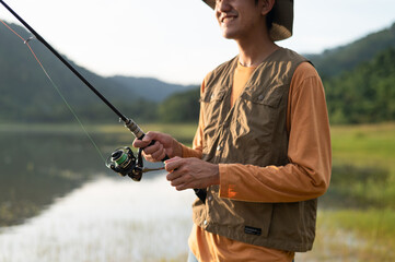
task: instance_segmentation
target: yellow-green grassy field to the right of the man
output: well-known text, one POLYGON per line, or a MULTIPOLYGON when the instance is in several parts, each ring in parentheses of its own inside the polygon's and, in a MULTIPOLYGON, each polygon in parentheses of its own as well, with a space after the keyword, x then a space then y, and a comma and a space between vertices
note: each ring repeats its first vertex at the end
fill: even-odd
POLYGON ((373 200, 371 203, 375 204, 321 210, 314 249, 299 258, 303 261, 394 261, 395 123, 335 126, 332 143, 334 172, 330 188, 338 190, 341 184, 345 194, 339 201, 348 202, 359 195, 360 200, 373 200), (342 174, 342 181, 334 177, 339 167, 342 171, 349 170, 342 174), (357 170, 358 176, 352 170, 357 170))

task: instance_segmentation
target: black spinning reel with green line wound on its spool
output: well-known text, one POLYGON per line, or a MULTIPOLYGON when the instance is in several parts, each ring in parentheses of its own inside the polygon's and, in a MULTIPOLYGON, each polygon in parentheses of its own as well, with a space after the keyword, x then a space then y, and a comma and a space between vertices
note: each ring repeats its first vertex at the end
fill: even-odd
POLYGON ((142 150, 139 150, 136 157, 130 147, 119 147, 107 158, 106 166, 123 177, 128 176, 140 181, 143 172, 141 152, 142 150))

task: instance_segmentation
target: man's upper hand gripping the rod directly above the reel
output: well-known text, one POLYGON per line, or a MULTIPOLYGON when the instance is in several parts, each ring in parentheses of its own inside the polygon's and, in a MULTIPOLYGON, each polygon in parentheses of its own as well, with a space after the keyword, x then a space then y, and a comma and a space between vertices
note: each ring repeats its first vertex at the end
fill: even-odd
POLYGON ((143 148, 143 156, 149 162, 161 162, 169 157, 182 156, 182 145, 171 135, 160 132, 148 132, 142 140, 135 139, 135 147, 143 148), (154 140, 153 145, 149 145, 154 140), (146 147, 147 146, 147 147, 146 147))

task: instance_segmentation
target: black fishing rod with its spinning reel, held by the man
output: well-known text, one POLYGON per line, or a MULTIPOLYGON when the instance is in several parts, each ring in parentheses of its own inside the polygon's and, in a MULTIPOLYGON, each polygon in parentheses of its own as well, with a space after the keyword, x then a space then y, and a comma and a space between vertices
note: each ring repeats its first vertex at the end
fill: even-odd
MULTIPOLYGON (((125 117, 113 104, 111 104, 107 98, 105 98, 84 76, 82 76, 60 53, 55 50, 30 24, 27 24, 15 11, 13 11, 3 0, 0 0, 0 3, 15 17, 18 19, 34 36, 39 40, 45 47, 48 48, 72 73, 74 73, 98 98, 104 102, 118 117, 119 120, 124 121, 125 127, 135 134, 138 140, 142 140, 146 136, 146 133, 141 128, 130 118, 125 117)), ((28 38, 26 41, 31 40, 28 38)), ((155 141, 152 141, 150 145, 154 144, 155 141)), ((133 155, 133 152, 130 147, 119 147, 112 153, 107 158, 106 166, 112 170, 118 172, 121 176, 129 176, 135 181, 140 181, 142 174, 147 171, 158 170, 158 168, 143 168, 142 160, 142 148, 138 150, 137 157, 133 155)), ((166 155, 162 162, 169 159, 166 155)), ((163 168, 159 168, 163 169, 163 168)), ((206 190, 204 189, 194 189, 196 195, 205 203, 206 201, 206 190)))

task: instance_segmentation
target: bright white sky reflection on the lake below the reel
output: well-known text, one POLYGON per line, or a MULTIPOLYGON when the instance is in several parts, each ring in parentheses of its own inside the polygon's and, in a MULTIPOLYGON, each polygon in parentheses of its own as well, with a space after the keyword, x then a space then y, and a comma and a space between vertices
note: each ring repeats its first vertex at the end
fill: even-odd
POLYGON ((194 199, 164 175, 139 183, 102 177, 2 229, 0 261, 177 260, 188 250, 194 199))

